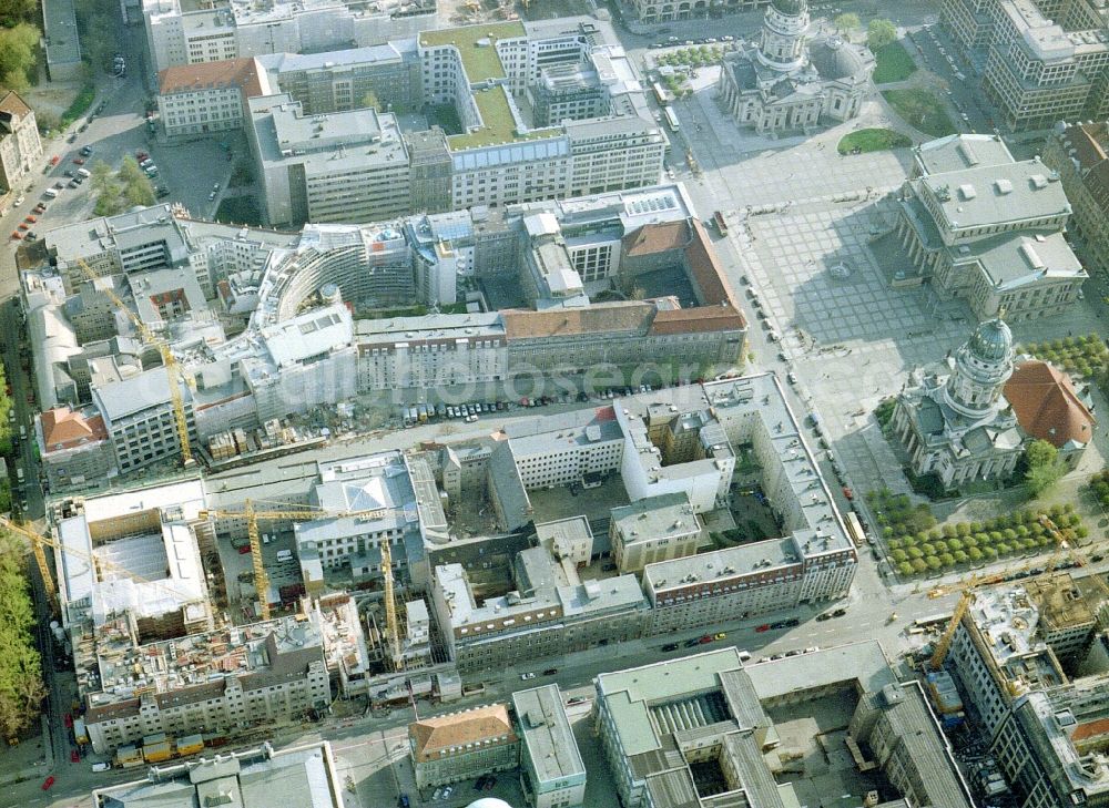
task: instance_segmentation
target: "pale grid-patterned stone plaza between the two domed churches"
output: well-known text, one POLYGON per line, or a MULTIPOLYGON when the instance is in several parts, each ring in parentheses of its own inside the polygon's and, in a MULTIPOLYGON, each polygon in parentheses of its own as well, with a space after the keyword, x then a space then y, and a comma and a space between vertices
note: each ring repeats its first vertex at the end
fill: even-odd
MULTIPOLYGON (((830 130, 760 137, 721 113, 712 71, 701 72, 692 98, 675 105, 682 129, 673 136, 671 162, 702 218, 714 211, 725 215, 729 236, 716 244, 751 321, 753 368, 797 375, 794 403, 820 415, 853 489, 908 492, 872 412, 902 389, 910 371, 962 345, 974 318, 962 301, 940 304, 927 286, 893 288, 901 256, 872 248, 895 221, 910 150, 851 156, 835 150, 855 129, 904 125, 871 101, 858 120, 830 130), (702 174, 679 165, 686 147, 702 174), (840 265, 845 277, 833 272, 840 265), (749 289, 760 297, 767 326, 781 335, 779 346, 766 341, 749 289)), ((1055 317, 1013 325, 1018 341, 1098 328, 1089 301, 1066 323, 1055 317)))

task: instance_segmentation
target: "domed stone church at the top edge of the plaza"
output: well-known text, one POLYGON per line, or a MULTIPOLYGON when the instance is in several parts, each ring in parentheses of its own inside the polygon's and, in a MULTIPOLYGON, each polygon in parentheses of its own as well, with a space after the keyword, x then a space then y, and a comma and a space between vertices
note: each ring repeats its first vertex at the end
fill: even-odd
POLYGON ((737 123, 775 134, 858 115, 874 57, 838 37, 808 34, 806 0, 774 0, 759 42, 724 58, 718 86, 737 123))

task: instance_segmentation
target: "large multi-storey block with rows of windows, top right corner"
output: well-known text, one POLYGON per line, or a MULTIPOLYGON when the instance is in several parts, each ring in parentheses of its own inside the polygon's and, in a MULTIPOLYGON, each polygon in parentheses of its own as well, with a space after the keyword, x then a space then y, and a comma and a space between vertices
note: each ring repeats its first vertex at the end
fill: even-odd
POLYGON ((940 23, 1013 130, 1109 114, 1109 18, 1098 0, 944 0, 940 23))

